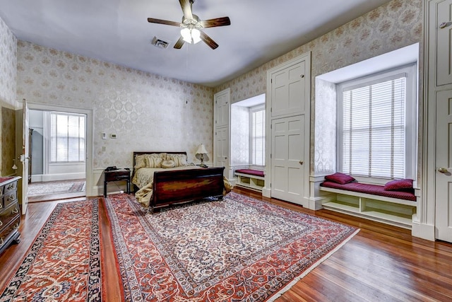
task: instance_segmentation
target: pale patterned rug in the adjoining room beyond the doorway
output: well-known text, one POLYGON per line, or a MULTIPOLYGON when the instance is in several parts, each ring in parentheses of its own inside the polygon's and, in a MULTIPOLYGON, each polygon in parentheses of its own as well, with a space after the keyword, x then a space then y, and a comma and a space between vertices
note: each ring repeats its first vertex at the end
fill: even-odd
POLYGON ((28 185, 28 196, 83 192, 85 180, 61 180, 54 182, 32 182, 28 185))

